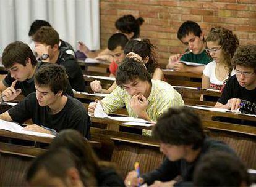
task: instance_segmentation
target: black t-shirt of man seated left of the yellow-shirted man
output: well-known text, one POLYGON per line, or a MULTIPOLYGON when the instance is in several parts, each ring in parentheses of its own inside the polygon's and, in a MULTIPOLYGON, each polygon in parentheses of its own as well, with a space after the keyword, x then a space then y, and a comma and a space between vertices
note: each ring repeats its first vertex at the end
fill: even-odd
POLYGON ((12 121, 22 124, 32 118, 34 124, 43 125, 60 132, 63 129, 78 130, 90 139, 90 117, 83 104, 70 96, 67 103, 57 114, 51 114, 48 106, 40 106, 36 94, 32 93, 8 110, 12 121))

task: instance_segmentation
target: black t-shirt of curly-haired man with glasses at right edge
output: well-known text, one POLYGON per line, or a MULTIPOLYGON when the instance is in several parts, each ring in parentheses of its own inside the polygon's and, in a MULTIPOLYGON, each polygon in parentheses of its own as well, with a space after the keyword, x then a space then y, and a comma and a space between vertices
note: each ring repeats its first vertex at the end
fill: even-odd
POLYGON ((218 102, 226 105, 231 98, 240 98, 256 104, 256 88, 253 90, 245 89, 245 87, 240 86, 236 75, 233 75, 228 79, 218 102))

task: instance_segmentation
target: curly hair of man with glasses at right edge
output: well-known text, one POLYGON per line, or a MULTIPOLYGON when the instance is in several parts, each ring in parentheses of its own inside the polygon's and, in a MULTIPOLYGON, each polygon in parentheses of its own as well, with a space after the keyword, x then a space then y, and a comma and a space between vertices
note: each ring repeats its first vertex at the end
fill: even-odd
POLYGON ((253 68, 256 73, 256 45, 240 46, 232 58, 232 65, 253 68))

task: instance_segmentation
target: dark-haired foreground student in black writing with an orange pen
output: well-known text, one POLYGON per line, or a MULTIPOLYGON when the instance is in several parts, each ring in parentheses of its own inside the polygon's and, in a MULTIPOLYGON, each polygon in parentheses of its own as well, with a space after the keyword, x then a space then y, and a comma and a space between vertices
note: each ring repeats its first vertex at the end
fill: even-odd
POLYGON ((135 171, 129 172, 124 181, 126 186, 138 186, 139 183, 187 186, 192 183, 198 158, 218 150, 236 156, 233 149, 225 143, 206 137, 200 117, 186 106, 169 108, 159 117, 153 137, 160 141, 160 151, 166 159, 158 169, 145 173, 140 178, 137 178, 135 171), (179 177, 179 180, 176 177, 179 177))

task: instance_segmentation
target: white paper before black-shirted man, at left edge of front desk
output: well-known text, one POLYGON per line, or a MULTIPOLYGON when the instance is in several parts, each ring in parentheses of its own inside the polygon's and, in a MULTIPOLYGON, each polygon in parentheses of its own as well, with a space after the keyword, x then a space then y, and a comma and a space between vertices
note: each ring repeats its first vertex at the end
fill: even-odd
POLYGON ((14 123, 14 122, 4 121, 2 119, 0 119, 0 129, 8 130, 8 131, 15 132, 15 133, 33 135, 33 136, 37 136, 37 137, 54 137, 54 135, 50 135, 48 133, 41 133, 41 132, 33 132, 33 131, 23 130, 22 126, 14 123))

